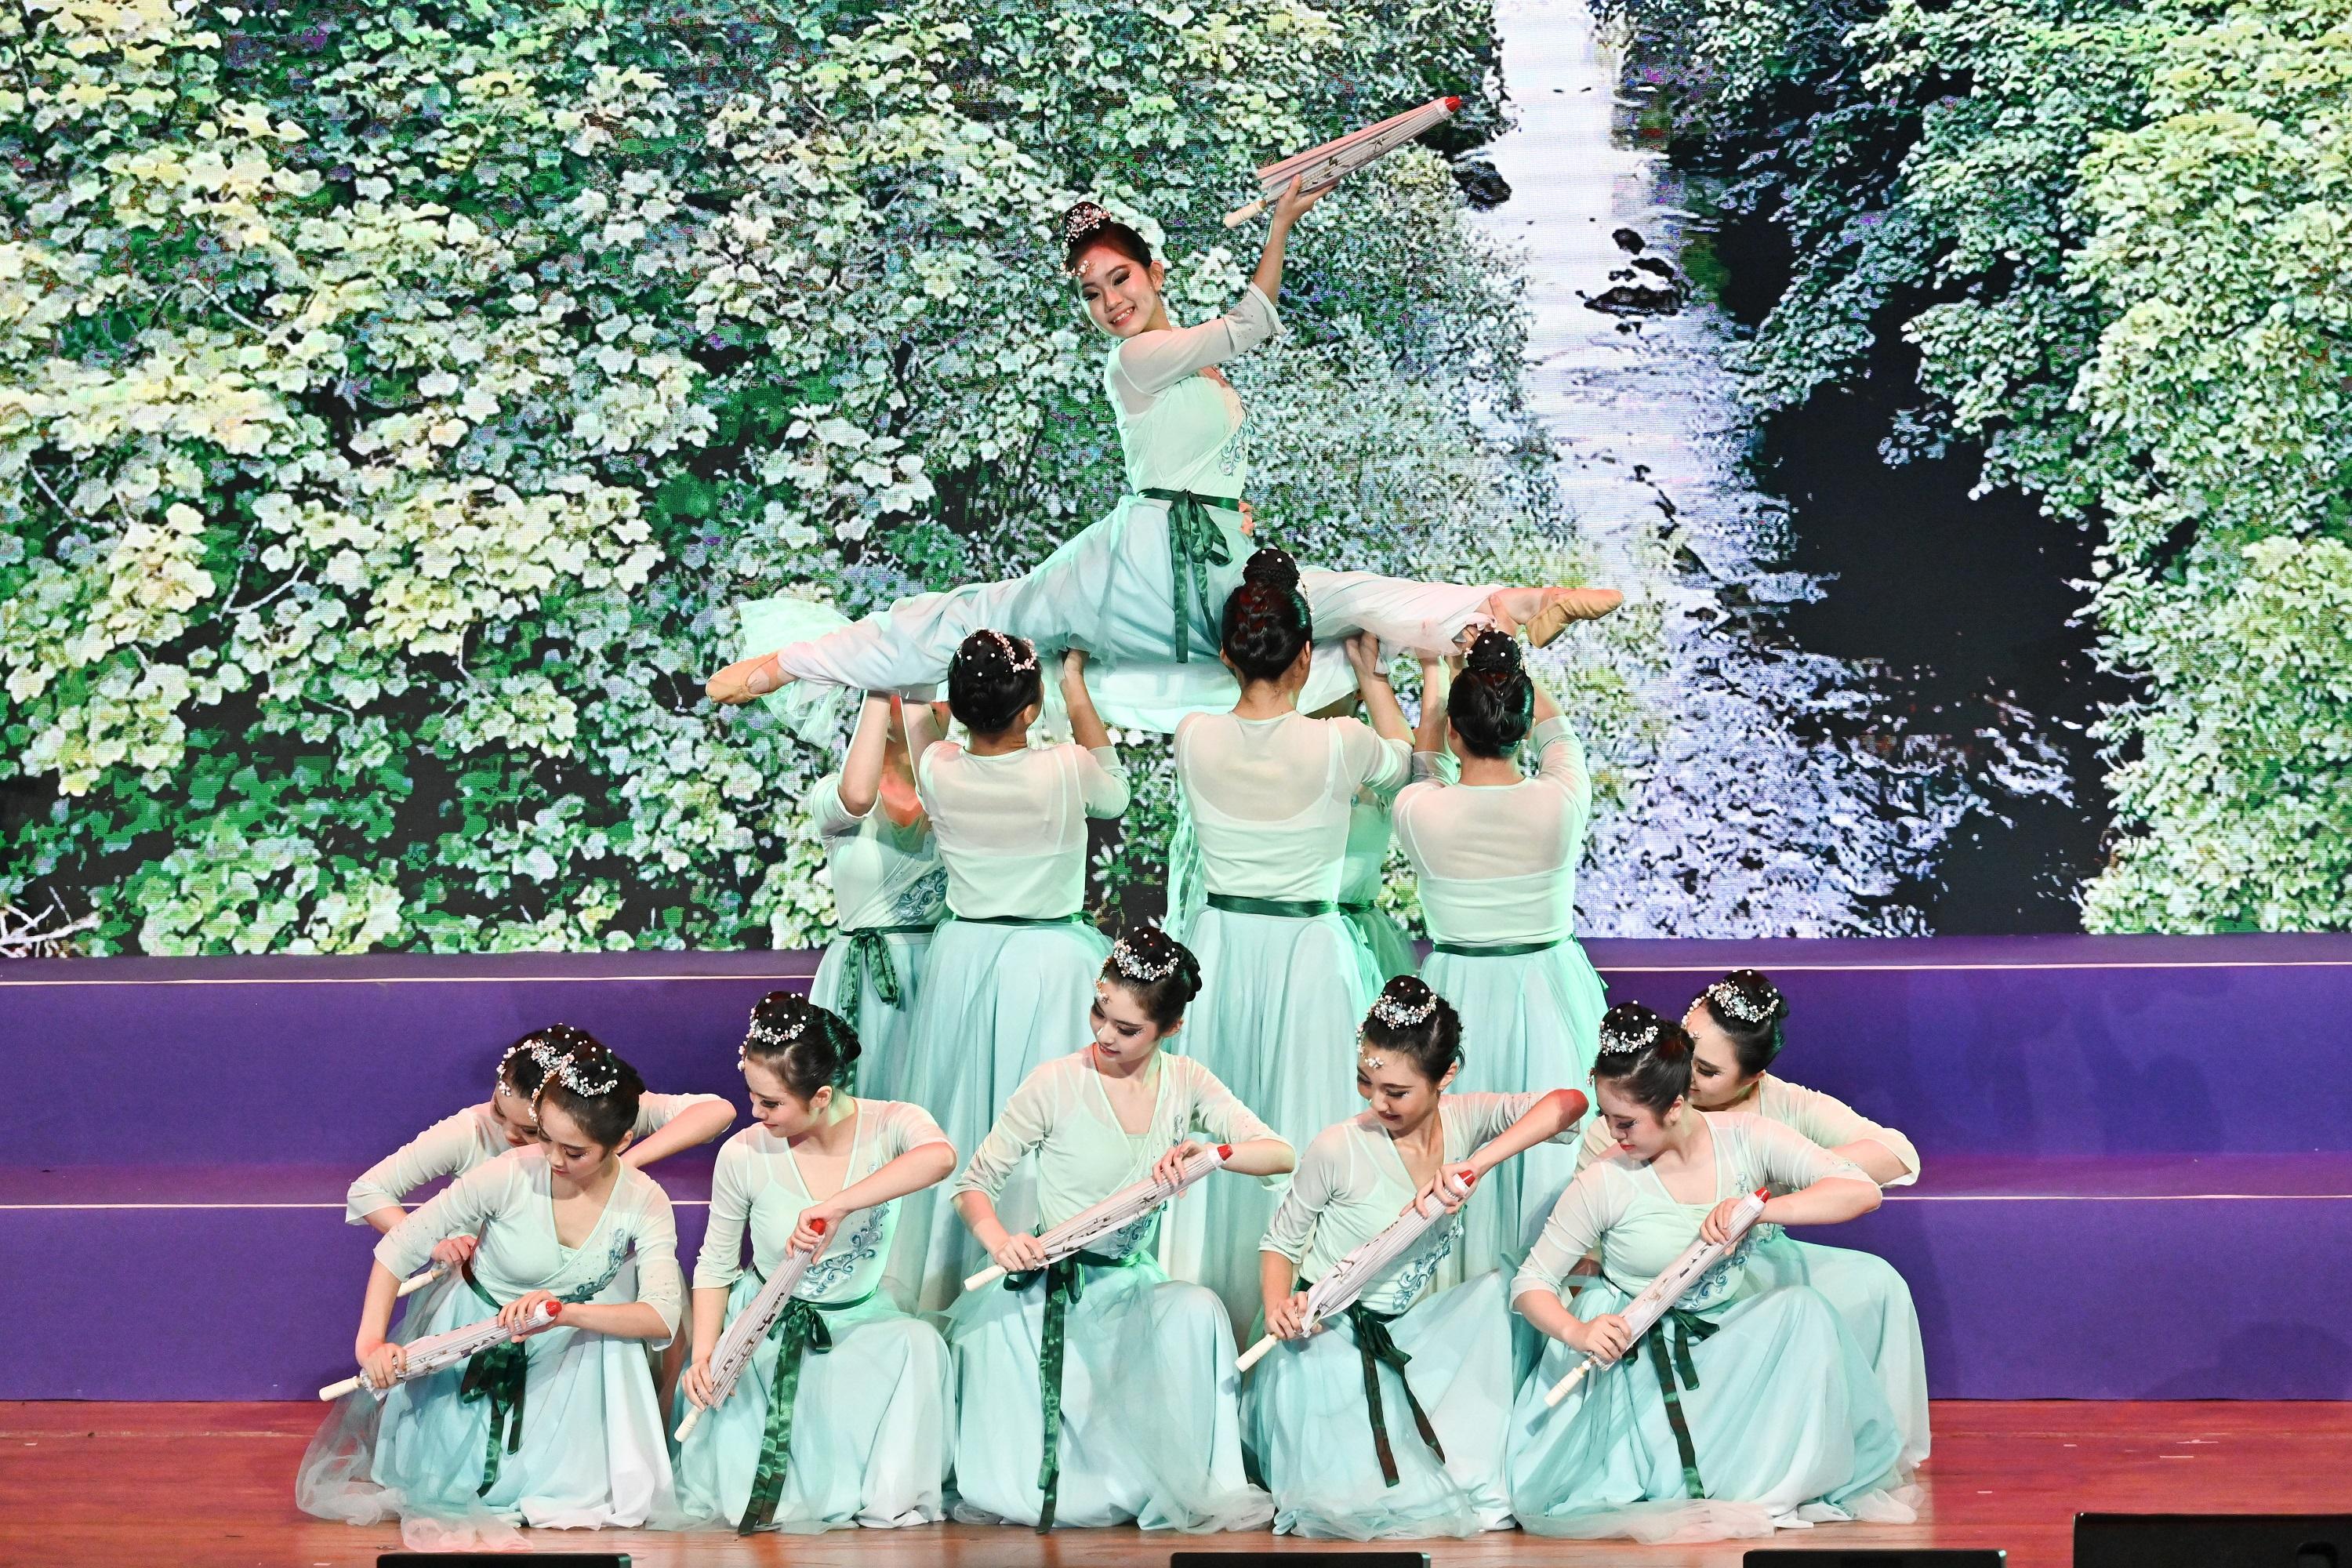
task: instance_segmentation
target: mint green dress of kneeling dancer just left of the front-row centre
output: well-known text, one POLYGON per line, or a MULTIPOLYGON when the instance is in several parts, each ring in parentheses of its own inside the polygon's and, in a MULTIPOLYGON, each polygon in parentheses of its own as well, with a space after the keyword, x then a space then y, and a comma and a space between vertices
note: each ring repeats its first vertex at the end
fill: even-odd
MULTIPOLYGON (((842 1185, 927 1143, 948 1140, 920 1105, 858 1100, 842 1185)), ((748 1126, 720 1147, 694 1288, 727 1291, 729 1324, 760 1295, 814 1201, 790 1140, 748 1126)), ((788 1533, 946 1519, 955 1378, 938 1331, 898 1312, 882 1288, 896 1225, 898 1204, 844 1215, 793 1291, 807 1305, 786 1309, 734 1394, 696 1422, 677 1450, 677 1502, 689 1519, 762 1526, 746 1519, 755 1490, 774 1497, 764 1523, 788 1533), (793 1392, 788 1415, 776 1389, 793 1392), (769 1462, 764 1486, 762 1448, 783 1460, 769 1462)), ((680 1394, 677 1415, 687 1408, 680 1394)))

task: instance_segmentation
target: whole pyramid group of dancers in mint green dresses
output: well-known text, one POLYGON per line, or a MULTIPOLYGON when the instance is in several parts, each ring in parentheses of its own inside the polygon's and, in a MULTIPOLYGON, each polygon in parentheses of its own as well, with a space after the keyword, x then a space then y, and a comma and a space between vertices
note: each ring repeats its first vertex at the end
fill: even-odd
POLYGON ((1277 329, 1315 200, 1294 186, 1244 301, 1185 329, 1141 235, 1073 209, 1063 263, 1115 339, 1131 494, 1025 578, 811 621, 710 682, 866 696, 809 802, 840 936, 811 997, 764 997, 731 1046, 755 1124, 720 1147, 691 1295, 644 1166, 734 1107, 647 1093, 581 1030, 527 1034, 487 1103, 350 1187, 383 1232, 355 1345, 374 1396, 329 1415, 301 1507, 423 1533, 955 1516, 1357 1540, 1910 1516, 1910 1293, 1780 1227, 1867 1213, 1917 1152, 1778 1077, 1764 976, 1679 1020, 1604 1013, 1573 938, 1590 780, 1517 637, 1616 595, 1249 550, 1244 411, 1214 364, 1277 329), (1421 668, 1418 729, 1395 656, 1421 668), (1070 743, 1033 741, 1049 712, 1070 743), (1183 818, 1167 924, 1115 943, 1082 910, 1087 820, 1129 802, 1105 719, 1174 729, 1183 818), (1374 900, 1392 839, 1418 964, 1374 900), (1136 1182, 1176 1194, 1202 1147, 1221 1168, 1174 1201, 1073 1255, 1040 1244, 1136 1182), (1621 1309, 1759 1187, 1762 1220, 1635 1338, 1621 1309), (1411 1206, 1444 1218, 1310 1321, 1310 1284, 1411 1206), (786 1262, 807 1272, 724 1392, 722 1333, 786 1262), (967 1288, 985 1265, 1002 1284, 967 1288), (421 1335, 550 1307, 405 1378, 421 1335), (1237 1331, 1279 1340, 1247 1380, 1237 1331), (1585 1356, 1611 1366, 1550 1408, 1585 1356))

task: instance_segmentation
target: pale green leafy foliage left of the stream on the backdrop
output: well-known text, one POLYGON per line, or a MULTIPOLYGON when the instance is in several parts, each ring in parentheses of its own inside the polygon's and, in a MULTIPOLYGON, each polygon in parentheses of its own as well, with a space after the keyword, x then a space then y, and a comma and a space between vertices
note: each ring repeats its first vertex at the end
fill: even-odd
MULTIPOLYGON (((828 757, 701 701, 729 607, 1040 559, 1117 487, 1054 214, 1150 219, 1221 308, 1254 162, 1489 66, 1477 5, 0 12, 0 905, 92 952, 811 940, 828 757)), ((1541 552, 1444 162, 1298 252, 1268 531, 1541 552)))

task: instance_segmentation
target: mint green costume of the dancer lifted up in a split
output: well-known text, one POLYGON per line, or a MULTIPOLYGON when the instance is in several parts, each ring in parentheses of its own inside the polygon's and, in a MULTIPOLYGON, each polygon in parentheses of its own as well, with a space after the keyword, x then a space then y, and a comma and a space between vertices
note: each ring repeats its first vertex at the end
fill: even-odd
MULTIPOLYGON (((898 599, 840 630, 769 644, 797 682, 910 691, 943 682, 957 644, 983 628, 1044 651, 1087 649, 1087 686, 1112 726, 1174 729, 1240 696, 1218 663, 1218 618, 1256 548, 1240 508, 1249 463, 1240 395, 1202 371, 1282 329, 1256 284, 1228 315, 1145 331, 1103 350, 1103 395, 1120 428, 1127 494, 1028 576, 898 599), (1162 491, 1162 494, 1150 494, 1162 491), (1181 545, 1181 562, 1178 562, 1181 545)), ((1494 585, 1406 583, 1369 571, 1303 571, 1322 639, 1305 708, 1355 686, 1341 642, 1359 630, 1395 646, 1451 649, 1494 585)), ((1051 701, 1054 682, 1047 682, 1051 701)))

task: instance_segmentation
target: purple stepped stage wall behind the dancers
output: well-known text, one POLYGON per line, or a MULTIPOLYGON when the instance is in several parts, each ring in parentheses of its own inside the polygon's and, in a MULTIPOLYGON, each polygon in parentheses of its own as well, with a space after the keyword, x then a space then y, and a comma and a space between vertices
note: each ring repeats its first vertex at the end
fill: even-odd
MULTIPOLYGON (((2352 1396, 2352 938, 1590 943, 1611 999, 1788 992, 1783 1070, 1926 1175, 1818 1239, 1912 1284, 1945 1399, 2352 1396)), ((287 1399, 348 1371, 343 1185, 579 1023, 741 1105, 811 954, 106 959, 0 969, 0 1399, 287 1399), (136 1354, 118 1349, 143 1324, 136 1354)), ((1345 1070, 1345 1041, 1334 1070, 1345 1070)), ((1470 1041, 1475 1048, 1475 1041, 1470 1041)), ((661 1164, 691 1255, 710 1150, 661 1164)))

